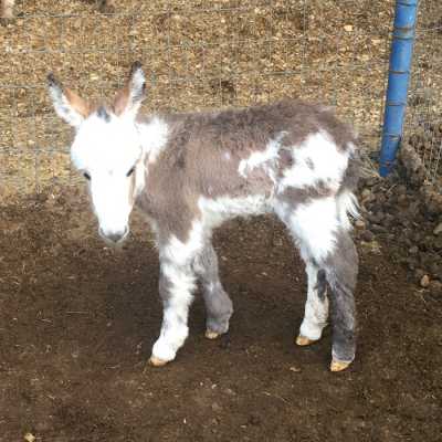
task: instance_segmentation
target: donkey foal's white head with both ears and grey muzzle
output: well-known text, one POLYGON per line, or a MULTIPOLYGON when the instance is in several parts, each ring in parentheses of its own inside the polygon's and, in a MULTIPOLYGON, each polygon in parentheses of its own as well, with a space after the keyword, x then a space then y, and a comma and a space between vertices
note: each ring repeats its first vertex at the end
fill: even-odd
POLYGON ((141 66, 134 63, 126 86, 109 106, 92 105, 52 74, 48 82, 56 114, 76 130, 71 158, 88 181, 99 234, 120 242, 129 231, 129 215, 144 180, 144 152, 136 125, 145 97, 141 66))

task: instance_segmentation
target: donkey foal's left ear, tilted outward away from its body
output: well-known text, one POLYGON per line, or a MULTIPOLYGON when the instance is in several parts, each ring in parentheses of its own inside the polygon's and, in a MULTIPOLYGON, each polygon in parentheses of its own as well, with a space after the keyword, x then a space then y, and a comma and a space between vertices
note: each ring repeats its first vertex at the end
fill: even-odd
POLYGON ((54 77, 48 75, 48 88, 56 114, 67 124, 78 127, 91 113, 90 104, 54 77))

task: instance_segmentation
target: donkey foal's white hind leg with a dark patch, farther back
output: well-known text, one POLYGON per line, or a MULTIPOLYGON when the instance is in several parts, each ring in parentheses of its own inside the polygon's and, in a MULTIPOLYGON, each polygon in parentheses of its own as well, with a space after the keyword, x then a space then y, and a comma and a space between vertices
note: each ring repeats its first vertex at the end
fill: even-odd
POLYGON ((328 319, 325 271, 319 270, 313 261, 307 261, 306 273, 308 280, 307 301, 299 335, 296 338, 296 344, 299 346, 306 346, 320 339, 328 319))

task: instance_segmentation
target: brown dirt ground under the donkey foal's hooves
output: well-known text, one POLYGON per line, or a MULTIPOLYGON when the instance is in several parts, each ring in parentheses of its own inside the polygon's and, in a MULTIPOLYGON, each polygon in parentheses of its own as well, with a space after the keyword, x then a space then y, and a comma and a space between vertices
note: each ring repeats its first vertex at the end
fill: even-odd
POLYGON ((408 282, 387 244, 357 241, 360 336, 348 371, 328 371, 329 330, 294 345, 304 270, 266 218, 215 235, 230 333, 203 337, 197 296, 185 347, 155 369, 149 231, 135 217, 126 245, 107 249, 83 193, 1 208, 0 441, 441 440, 442 297, 408 282))

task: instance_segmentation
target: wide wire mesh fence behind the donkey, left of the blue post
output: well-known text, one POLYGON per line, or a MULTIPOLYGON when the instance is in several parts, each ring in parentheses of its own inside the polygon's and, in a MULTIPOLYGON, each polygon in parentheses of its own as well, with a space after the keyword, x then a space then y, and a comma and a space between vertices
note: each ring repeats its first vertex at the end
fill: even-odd
POLYGON ((336 106, 378 149, 393 0, 115 3, 102 13, 93 1, 18 1, 0 27, 3 189, 75 182, 72 134, 48 99, 49 72, 96 98, 113 94, 135 60, 149 78, 146 112, 295 96, 336 106))

